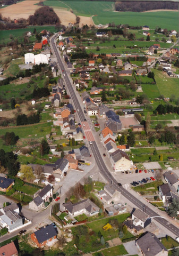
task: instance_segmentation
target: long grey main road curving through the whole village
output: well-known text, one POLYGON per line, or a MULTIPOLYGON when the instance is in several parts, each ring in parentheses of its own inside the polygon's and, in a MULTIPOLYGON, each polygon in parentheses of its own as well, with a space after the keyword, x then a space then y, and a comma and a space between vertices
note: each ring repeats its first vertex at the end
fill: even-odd
MULTIPOLYGON (((83 109, 81 107, 82 102, 79 102, 78 97, 76 97, 76 90, 75 87, 71 84, 70 79, 68 77, 68 74, 66 73, 65 67, 63 65, 63 61, 59 55, 59 50, 56 47, 55 44, 55 37, 56 35, 54 35, 51 39, 51 43, 52 43, 52 47, 54 50, 54 53, 56 55, 57 58, 57 62, 58 62, 58 66, 59 68, 61 68, 61 70, 63 70, 62 74, 64 74, 64 79, 66 82, 66 86, 67 89, 70 92, 70 95, 72 97, 73 103, 74 103, 74 107, 75 109, 79 110, 77 113, 79 115, 80 121, 81 123, 84 125, 88 125, 86 121, 84 121, 84 119, 86 118, 83 114, 83 109)), ((85 127, 86 127, 85 126, 85 127)), ((88 126, 89 127, 89 126, 88 126)), ((84 129, 84 132, 86 132, 86 129, 84 129)), ((92 132, 88 130, 88 136, 90 133, 90 141, 92 142, 92 144, 90 144, 90 148, 92 151, 93 156, 95 157, 95 161, 96 164, 98 165, 99 171, 101 172, 101 174, 103 175, 103 177, 110 183, 112 184, 112 186, 121 192, 121 194, 128 199, 132 204, 134 204, 136 207, 138 207, 139 209, 141 209, 142 211, 145 211, 149 217, 156 217, 156 215, 159 217, 158 214, 156 214, 155 211, 153 211, 152 209, 150 209, 149 206, 143 204, 138 198, 136 198, 135 196, 133 196, 131 193, 129 193, 129 191, 127 191, 126 189, 124 189, 123 187, 120 187, 117 185, 117 181, 114 179, 113 175, 110 173, 110 171, 107 169, 103 158, 101 157, 101 154, 99 152, 98 149, 98 145, 95 142, 95 139, 93 138, 92 132)), ((165 227, 166 229, 168 229, 169 231, 171 231, 171 233, 174 234, 174 236, 179 237, 179 229, 174 226, 172 223, 168 222, 166 219, 164 218, 156 218, 155 219, 157 222, 160 223, 160 225, 162 225, 163 227, 165 227)))

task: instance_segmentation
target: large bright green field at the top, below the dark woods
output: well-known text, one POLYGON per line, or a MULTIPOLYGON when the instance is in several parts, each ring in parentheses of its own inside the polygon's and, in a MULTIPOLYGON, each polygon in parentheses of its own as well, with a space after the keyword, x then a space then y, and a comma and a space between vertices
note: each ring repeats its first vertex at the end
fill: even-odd
POLYGON ((156 26, 167 29, 178 29, 177 12, 114 12, 114 2, 100 1, 54 1, 47 0, 45 5, 61 7, 66 10, 73 10, 74 14, 82 16, 92 16, 95 24, 129 24, 131 26, 143 26, 147 24, 155 29, 156 26))

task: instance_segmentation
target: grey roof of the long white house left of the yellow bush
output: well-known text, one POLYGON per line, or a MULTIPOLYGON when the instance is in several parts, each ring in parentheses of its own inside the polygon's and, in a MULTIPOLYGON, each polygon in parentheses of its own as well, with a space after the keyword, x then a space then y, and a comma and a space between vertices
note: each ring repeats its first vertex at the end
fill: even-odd
POLYGON ((89 198, 84 199, 75 204, 69 202, 64 203, 63 205, 70 213, 74 213, 83 209, 86 209, 89 213, 99 211, 99 207, 96 204, 94 204, 89 198))

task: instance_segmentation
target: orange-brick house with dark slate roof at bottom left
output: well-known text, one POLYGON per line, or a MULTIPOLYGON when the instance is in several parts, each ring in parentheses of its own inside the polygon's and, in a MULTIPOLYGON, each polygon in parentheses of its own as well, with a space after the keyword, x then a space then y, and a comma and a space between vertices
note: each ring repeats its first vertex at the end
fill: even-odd
POLYGON ((57 228, 54 228, 53 224, 50 224, 32 233, 30 237, 32 241, 40 248, 48 245, 49 242, 52 243, 53 241, 57 241, 57 234, 57 228))

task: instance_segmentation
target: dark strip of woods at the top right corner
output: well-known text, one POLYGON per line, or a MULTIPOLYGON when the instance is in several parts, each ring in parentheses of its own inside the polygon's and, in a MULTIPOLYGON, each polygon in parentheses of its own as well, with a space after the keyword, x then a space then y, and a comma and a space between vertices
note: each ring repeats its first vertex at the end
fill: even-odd
POLYGON ((120 1, 115 2, 115 11, 122 12, 144 12, 150 10, 178 10, 176 2, 161 2, 161 1, 120 1))

